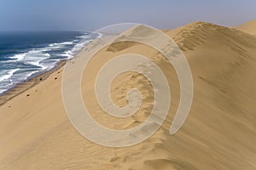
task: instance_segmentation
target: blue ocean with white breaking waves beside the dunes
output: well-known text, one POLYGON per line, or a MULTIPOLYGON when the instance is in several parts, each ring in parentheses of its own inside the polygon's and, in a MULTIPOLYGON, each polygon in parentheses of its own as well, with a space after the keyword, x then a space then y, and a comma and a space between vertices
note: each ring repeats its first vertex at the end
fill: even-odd
POLYGON ((99 36, 83 31, 0 31, 0 94, 72 58, 99 36))

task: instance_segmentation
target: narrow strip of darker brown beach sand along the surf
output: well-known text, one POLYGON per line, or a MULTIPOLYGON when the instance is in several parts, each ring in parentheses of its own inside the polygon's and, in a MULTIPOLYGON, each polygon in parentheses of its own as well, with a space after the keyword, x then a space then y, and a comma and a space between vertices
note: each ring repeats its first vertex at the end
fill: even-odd
MULTIPOLYGON (((81 49, 83 50, 83 48, 81 49)), ((80 50, 80 51, 81 51, 80 50)), ((80 52, 79 51, 79 52, 80 52)), ((78 53, 79 54, 79 53, 78 53)), ((73 58, 76 56, 75 54, 73 58)), ((73 59, 72 58, 72 59, 73 59)), ((49 71, 45 71, 42 73, 39 73, 38 75, 28 78, 24 82, 20 82, 15 85, 14 88, 9 88, 9 90, 3 92, 3 94, 0 94, 0 106, 4 105, 6 102, 8 102, 10 99, 15 98, 19 94, 22 94, 23 92, 26 92, 26 90, 34 87, 40 82, 44 82, 51 74, 53 74, 55 71, 58 71, 62 66, 64 66, 69 59, 63 59, 59 61, 52 69, 49 71)))

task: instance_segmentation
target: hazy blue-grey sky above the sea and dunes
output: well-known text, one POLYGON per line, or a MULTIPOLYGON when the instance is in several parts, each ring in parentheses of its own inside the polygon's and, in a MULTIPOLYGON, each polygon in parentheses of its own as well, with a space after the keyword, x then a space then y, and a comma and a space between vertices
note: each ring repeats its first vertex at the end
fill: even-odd
POLYGON ((119 23, 172 29, 249 20, 256 20, 256 0, 0 0, 0 31, 95 31, 119 23))

